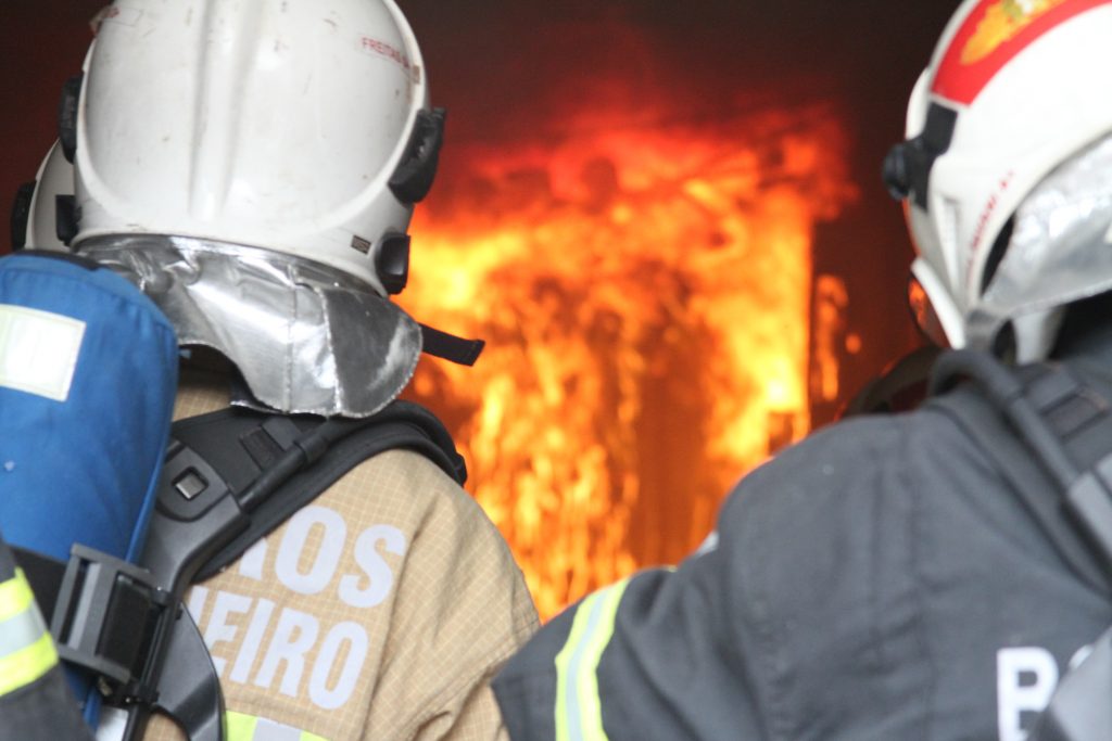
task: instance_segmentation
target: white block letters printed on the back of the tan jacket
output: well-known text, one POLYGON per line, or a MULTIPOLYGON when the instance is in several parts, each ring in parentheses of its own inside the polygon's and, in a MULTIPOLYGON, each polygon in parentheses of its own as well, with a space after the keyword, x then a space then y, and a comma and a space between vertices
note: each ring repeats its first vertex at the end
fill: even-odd
MULTIPOLYGON (((238 571, 275 584, 279 593, 286 588, 298 594, 328 594, 356 609, 374 608, 390 595, 395 572, 387 559, 398 557, 390 561, 400 563, 406 535, 386 524, 371 525, 354 540, 348 534, 337 512, 309 505, 290 518, 277 548, 268 549, 264 539, 245 552, 238 571), (268 551, 274 551, 272 563, 268 551), (340 568, 345 553, 357 567, 350 573, 340 568)), ((221 681, 277 689, 325 710, 351 699, 370 652, 364 625, 334 622, 336 610, 328 605, 319 612, 297 610, 282 607, 280 594, 271 600, 193 587, 188 609, 214 652, 221 681)))

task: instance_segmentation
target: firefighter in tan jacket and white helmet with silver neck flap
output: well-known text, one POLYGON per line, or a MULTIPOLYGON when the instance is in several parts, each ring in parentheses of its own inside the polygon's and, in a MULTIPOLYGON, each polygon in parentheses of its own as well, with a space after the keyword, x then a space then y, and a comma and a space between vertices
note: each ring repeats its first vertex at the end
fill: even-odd
MULTIPOLYGON (((386 407, 423 334, 444 340, 389 300, 444 122, 394 0, 119 2, 100 19, 53 154, 73 190, 36 200, 170 318, 176 418, 386 407)), ((230 739, 499 738, 488 680, 537 623, 493 523, 410 450, 355 465, 185 601, 230 739)), ((181 733, 159 717, 143 738, 181 733)))

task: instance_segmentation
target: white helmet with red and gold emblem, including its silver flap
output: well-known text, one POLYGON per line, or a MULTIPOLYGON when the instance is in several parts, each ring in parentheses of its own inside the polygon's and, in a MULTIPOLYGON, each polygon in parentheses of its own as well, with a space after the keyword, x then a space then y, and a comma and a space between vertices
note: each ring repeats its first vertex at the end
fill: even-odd
POLYGON ((966 0, 915 86, 885 180, 951 347, 1043 358, 1112 289, 1110 40, 1112 0, 966 0))

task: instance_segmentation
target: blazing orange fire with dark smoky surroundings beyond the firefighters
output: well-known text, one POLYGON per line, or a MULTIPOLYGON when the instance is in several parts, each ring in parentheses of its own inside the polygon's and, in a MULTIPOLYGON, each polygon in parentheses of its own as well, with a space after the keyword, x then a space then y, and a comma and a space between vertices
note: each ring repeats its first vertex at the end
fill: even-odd
MULTIPOLYGON (((6 9, 6 192, 53 139, 101 4, 6 9)), ((828 419, 842 371, 909 349, 871 319, 902 307, 910 261, 876 169, 952 9, 401 4, 449 123, 400 302, 489 342, 473 369, 423 363, 410 395, 550 615, 682 558, 738 475, 828 419)))

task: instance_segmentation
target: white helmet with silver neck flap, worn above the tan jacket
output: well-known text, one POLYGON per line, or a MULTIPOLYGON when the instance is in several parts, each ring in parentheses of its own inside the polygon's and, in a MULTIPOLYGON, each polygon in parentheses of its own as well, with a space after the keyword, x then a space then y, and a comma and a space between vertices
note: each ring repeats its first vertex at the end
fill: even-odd
POLYGON ((394 0, 119 0, 100 20, 62 98, 63 242, 227 357, 242 403, 366 417, 423 349, 474 362, 481 342, 387 298, 444 123, 394 0))

